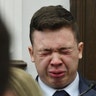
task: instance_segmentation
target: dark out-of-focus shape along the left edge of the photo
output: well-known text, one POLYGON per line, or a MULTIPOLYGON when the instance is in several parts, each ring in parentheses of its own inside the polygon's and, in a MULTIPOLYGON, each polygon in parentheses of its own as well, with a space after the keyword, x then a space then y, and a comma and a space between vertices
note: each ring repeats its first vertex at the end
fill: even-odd
POLYGON ((0 16, 0 96, 6 88, 10 66, 10 36, 0 16))

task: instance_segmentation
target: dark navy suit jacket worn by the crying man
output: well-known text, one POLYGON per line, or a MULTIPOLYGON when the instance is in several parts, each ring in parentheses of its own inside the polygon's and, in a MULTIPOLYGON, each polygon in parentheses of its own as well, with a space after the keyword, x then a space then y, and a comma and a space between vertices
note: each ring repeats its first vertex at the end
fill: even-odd
MULTIPOLYGON (((79 91, 80 91, 80 94, 81 94, 82 92, 85 92, 87 89, 89 89, 90 85, 93 82, 84 79, 80 75, 79 75, 79 79, 80 79, 79 80, 79 91)), ((38 82, 38 76, 36 77, 36 81, 38 82)), ((96 96, 96 85, 94 86, 94 88, 90 89, 86 94, 81 95, 81 96, 96 96)))

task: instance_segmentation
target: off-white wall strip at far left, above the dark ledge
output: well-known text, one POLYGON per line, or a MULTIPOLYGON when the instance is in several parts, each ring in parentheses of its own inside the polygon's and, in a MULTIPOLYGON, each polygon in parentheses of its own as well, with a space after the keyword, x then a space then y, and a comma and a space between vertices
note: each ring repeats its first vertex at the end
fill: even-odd
POLYGON ((21 60, 22 55, 22 0, 0 0, 0 13, 11 36, 10 55, 21 60))

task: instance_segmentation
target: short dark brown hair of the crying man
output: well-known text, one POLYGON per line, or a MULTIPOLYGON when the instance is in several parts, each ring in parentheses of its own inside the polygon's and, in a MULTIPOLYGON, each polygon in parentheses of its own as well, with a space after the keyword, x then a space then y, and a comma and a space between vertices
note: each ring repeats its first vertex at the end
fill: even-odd
POLYGON ((77 42, 80 41, 78 25, 68 10, 63 8, 61 5, 42 7, 33 15, 31 19, 30 41, 33 44, 33 33, 35 30, 56 30, 62 27, 72 28, 77 42))

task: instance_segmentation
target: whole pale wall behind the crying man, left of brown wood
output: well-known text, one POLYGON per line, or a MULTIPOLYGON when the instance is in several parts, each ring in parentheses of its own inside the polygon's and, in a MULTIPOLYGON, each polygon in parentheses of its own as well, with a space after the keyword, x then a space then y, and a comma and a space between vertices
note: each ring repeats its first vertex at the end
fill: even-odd
POLYGON ((0 0, 0 11, 12 37, 11 58, 25 61, 28 64, 26 71, 34 78, 37 71, 28 52, 28 46, 30 46, 29 24, 34 12, 47 5, 62 5, 66 9, 70 9, 69 0, 0 0))

